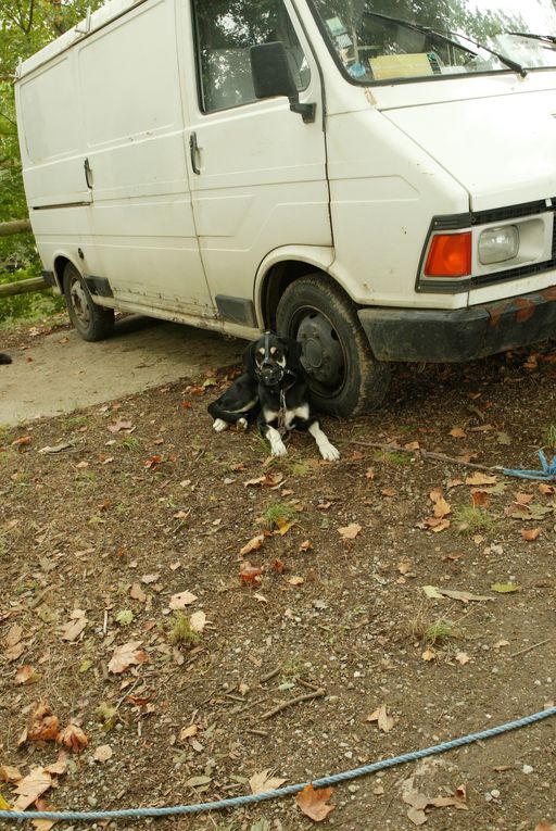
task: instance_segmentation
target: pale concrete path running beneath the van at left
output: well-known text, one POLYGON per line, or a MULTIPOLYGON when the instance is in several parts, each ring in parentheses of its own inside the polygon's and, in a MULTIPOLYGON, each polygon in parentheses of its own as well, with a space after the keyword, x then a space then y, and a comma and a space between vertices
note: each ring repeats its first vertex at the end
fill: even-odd
POLYGON ((10 350, 0 366, 0 425, 71 413, 134 392, 195 378, 237 363, 245 341, 146 317, 126 317, 114 336, 86 343, 74 330, 10 350))

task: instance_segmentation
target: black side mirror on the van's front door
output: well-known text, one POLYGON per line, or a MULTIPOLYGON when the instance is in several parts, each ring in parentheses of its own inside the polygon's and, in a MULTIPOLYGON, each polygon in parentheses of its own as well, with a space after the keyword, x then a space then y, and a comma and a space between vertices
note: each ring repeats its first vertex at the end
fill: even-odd
POLYGON ((286 96, 292 112, 303 116, 306 123, 315 121, 316 105, 300 103, 300 93, 281 40, 251 47, 250 59, 256 98, 286 96))

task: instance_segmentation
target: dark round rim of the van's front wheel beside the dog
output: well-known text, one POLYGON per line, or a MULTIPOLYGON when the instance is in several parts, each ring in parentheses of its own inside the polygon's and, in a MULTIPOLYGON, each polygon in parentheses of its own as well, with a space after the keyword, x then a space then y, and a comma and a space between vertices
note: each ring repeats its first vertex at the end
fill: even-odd
POLYGON ((302 364, 313 390, 324 398, 338 395, 345 382, 345 352, 329 318, 317 309, 301 309, 293 331, 302 344, 302 364))

